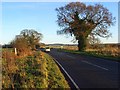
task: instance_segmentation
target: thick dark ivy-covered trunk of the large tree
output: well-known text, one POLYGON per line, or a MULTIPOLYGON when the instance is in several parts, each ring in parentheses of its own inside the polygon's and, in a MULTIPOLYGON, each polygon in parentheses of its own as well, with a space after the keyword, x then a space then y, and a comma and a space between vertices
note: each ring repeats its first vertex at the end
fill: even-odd
POLYGON ((80 37, 78 39, 78 50, 85 51, 85 48, 86 48, 86 38, 80 37))

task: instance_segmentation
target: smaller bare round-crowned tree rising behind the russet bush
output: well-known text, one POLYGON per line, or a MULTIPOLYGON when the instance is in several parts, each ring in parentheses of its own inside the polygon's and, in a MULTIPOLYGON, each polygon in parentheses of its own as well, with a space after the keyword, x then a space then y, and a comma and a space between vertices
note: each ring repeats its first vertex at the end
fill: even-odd
POLYGON ((39 45, 39 42, 43 37, 41 33, 38 33, 33 29, 22 30, 20 35, 27 40, 28 45, 31 47, 32 50, 36 48, 36 45, 39 45))

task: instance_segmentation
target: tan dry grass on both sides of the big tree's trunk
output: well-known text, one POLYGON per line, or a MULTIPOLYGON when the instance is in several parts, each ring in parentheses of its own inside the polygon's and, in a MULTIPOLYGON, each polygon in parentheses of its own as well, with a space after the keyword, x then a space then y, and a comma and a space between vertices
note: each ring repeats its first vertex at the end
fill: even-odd
MULTIPOLYGON (((78 50, 77 46, 64 46, 66 50, 78 50)), ((91 46, 86 48, 87 52, 95 53, 98 55, 120 57, 120 49, 118 46, 91 46)))

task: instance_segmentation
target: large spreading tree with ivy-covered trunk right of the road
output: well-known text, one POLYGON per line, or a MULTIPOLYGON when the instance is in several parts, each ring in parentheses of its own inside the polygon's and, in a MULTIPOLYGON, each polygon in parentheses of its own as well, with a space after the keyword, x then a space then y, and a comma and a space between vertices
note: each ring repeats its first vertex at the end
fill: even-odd
POLYGON ((56 8, 58 25, 62 30, 58 34, 74 35, 78 40, 79 51, 84 51, 89 35, 107 38, 111 36, 108 27, 114 24, 115 18, 101 4, 86 6, 81 2, 72 2, 56 8))

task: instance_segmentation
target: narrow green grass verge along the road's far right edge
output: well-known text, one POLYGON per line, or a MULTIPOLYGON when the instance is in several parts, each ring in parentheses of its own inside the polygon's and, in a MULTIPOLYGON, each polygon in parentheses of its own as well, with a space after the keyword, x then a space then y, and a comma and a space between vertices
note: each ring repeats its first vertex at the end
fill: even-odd
POLYGON ((80 52, 78 50, 66 50, 66 49, 58 49, 58 51, 64 51, 64 52, 69 52, 69 53, 74 53, 74 54, 80 54, 83 56, 93 56, 93 57, 98 57, 98 58, 104 58, 106 60, 113 60, 113 61, 120 61, 120 57, 114 57, 110 55, 101 55, 101 54, 96 54, 96 52, 80 52))

